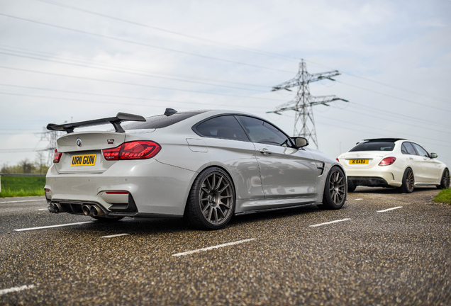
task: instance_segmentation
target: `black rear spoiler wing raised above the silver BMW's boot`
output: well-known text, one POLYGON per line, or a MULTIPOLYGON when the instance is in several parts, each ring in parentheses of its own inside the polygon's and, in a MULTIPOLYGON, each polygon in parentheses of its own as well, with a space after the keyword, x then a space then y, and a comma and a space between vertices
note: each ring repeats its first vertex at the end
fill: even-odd
POLYGON ((102 118, 96 120, 82 121, 78 123, 63 123, 62 125, 56 125, 55 123, 49 123, 47 130, 66 131, 67 134, 74 132, 74 128, 86 128, 94 125, 103 125, 111 123, 116 132, 126 132, 121 127, 122 121, 145 121, 145 118, 140 115, 133 115, 129 113, 118 113, 116 117, 102 118))

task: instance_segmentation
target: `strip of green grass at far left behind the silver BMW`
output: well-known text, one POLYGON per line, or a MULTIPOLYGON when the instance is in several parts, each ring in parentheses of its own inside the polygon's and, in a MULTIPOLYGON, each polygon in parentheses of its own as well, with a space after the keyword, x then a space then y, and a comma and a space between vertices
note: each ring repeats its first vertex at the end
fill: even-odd
POLYGON ((0 198, 45 196, 45 176, 1 176, 0 198))

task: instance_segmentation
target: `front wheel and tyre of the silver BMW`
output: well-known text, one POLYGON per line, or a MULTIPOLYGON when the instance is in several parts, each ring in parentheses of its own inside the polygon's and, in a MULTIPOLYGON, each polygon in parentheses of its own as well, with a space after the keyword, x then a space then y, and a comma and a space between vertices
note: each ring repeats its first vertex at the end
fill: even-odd
POLYGON ((333 166, 324 184, 323 205, 328 209, 339 209, 347 196, 346 179, 342 169, 333 166))

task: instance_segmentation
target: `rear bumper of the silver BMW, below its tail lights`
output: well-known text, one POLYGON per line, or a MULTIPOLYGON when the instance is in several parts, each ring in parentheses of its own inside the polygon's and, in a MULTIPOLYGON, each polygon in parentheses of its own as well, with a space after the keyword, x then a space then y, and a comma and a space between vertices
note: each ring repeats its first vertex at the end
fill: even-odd
POLYGON ((96 205, 111 217, 182 216, 196 172, 155 159, 121 161, 101 174, 59 174, 50 167, 46 198, 62 210, 82 214, 82 205, 96 205), (106 195, 127 191, 128 196, 106 195), (135 204, 135 209, 133 205, 135 204))

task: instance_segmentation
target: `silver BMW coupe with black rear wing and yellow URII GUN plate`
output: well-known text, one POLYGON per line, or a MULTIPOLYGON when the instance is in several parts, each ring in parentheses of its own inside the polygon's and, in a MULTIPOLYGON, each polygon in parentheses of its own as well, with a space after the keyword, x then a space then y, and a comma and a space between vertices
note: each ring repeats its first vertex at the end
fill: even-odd
POLYGON ((57 140, 48 210, 99 220, 185 217, 221 229, 233 215, 343 206, 343 166, 267 120, 237 111, 186 111, 49 124, 57 140), (110 131, 75 128, 112 124, 110 131))

